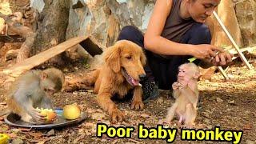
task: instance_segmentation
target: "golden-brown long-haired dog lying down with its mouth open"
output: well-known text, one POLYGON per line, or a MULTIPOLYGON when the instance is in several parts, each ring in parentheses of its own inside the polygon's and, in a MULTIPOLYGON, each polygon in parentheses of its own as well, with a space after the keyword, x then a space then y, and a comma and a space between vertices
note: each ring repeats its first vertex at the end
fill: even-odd
POLYGON ((139 81, 146 77, 143 66, 146 56, 142 47, 134 42, 121 40, 103 52, 104 64, 101 68, 93 70, 83 78, 83 84, 93 85, 94 92, 98 94, 98 105, 110 114, 111 122, 122 122, 124 114, 110 99, 114 94, 124 98, 129 90, 133 90, 131 108, 142 110, 142 87, 139 81))

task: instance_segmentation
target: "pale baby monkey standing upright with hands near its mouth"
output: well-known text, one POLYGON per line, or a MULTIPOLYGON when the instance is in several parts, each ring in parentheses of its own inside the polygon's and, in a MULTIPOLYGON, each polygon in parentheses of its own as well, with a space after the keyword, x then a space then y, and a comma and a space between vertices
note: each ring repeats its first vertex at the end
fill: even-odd
POLYGON ((176 101, 167 112, 166 122, 170 122, 176 114, 179 124, 184 122, 186 127, 194 126, 197 116, 199 76, 198 66, 194 63, 186 63, 178 67, 178 81, 172 85, 176 101))

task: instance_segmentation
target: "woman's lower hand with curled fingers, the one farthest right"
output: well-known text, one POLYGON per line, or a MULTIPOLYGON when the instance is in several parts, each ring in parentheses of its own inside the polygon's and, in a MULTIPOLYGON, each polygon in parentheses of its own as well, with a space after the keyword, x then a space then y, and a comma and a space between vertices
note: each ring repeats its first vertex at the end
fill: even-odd
POLYGON ((212 64, 214 66, 225 66, 226 64, 232 62, 233 54, 230 54, 228 52, 221 52, 216 55, 216 57, 213 58, 212 64))

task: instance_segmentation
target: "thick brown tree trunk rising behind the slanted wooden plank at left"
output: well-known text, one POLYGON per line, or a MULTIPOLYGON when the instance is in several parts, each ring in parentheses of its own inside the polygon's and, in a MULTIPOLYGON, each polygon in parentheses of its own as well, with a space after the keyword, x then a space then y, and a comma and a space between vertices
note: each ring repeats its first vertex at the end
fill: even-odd
MULTIPOLYGON (((66 40, 70 0, 44 0, 44 2, 45 6, 38 17, 38 30, 34 40, 33 55, 66 40)), ((62 62, 60 56, 52 59, 52 61, 54 60, 58 63, 62 62)))

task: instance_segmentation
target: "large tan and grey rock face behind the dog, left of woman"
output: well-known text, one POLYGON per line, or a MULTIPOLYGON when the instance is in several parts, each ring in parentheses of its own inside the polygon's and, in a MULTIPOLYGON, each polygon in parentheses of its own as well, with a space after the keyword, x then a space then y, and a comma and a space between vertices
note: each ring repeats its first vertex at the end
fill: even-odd
MULTIPOLYGON (((102 46, 112 46, 124 26, 132 25, 139 30, 146 30, 154 2, 155 0, 72 0, 66 39, 90 35, 102 46)), ((74 46, 74 49, 82 48, 74 46)))

